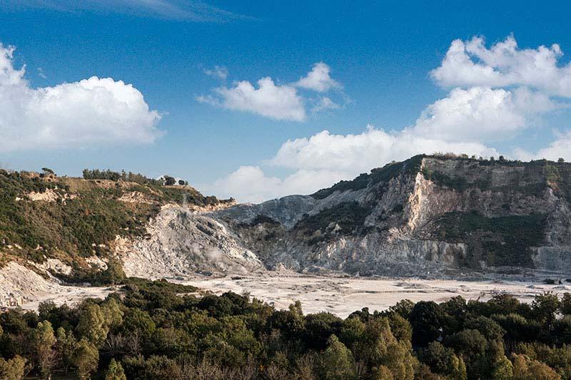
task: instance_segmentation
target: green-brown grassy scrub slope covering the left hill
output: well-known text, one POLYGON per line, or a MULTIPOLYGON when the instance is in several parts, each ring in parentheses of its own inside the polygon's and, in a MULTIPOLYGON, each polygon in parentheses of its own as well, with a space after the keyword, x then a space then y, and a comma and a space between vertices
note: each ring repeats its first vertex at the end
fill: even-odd
POLYGON ((183 197, 189 205, 218 202, 216 197, 204 197, 190 187, 79 178, 46 179, 0 170, 0 262, 18 257, 43 262, 45 257, 56 257, 81 265, 81 257, 105 256, 107 243, 116 235, 143 235, 146 222, 156 215, 161 205, 181 202, 183 197), (26 197, 30 192, 46 189, 55 189, 61 196, 59 200, 32 201, 26 197), (132 191, 142 192, 151 203, 118 200, 132 191), (74 194, 76 198, 63 202, 65 194, 74 194), (16 197, 23 199, 16 200, 16 197))

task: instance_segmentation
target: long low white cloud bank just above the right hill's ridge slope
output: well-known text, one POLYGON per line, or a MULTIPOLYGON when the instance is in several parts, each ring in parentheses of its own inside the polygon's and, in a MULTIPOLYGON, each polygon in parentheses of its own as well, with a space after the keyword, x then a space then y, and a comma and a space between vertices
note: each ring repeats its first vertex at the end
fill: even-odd
POLYGON ((310 138, 288 140, 268 164, 289 168, 285 178, 266 175, 258 166, 242 166, 202 190, 240 202, 262 202, 291 194, 312 194, 340 180, 419 153, 459 152, 497 155, 481 143, 463 143, 423 138, 410 131, 388 133, 372 126, 358 135, 332 135, 327 130, 310 138))

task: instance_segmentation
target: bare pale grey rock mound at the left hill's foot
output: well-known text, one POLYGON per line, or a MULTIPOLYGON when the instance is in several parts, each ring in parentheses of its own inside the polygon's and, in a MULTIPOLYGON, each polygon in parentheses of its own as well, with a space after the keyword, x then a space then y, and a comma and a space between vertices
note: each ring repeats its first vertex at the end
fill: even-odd
POLYGON ((116 241, 116 252, 128 276, 173 277, 263 269, 256 255, 224 225, 187 208, 163 208, 147 231, 145 238, 116 241))

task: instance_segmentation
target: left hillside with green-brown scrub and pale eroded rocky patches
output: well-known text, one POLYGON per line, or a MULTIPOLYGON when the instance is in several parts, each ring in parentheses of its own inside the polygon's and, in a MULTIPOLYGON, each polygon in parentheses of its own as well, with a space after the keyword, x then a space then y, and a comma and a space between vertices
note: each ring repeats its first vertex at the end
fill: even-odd
MULTIPOLYGON (((162 220, 161 210, 233 203, 130 174, 139 182, 0 170, 0 268, 16 262, 45 277, 92 281, 124 241, 153 241, 149 228, 162 220)), ((196 249, 203 248, 210 249, 196 249)))

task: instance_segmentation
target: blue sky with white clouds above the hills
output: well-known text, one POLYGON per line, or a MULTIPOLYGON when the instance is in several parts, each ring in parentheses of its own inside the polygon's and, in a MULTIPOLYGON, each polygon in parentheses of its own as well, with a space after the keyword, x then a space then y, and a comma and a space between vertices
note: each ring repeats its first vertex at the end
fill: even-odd
POLYGON ((420 151, 571 160, 565 1, 74 3, 0 0, 1 165, 260 201, 420 151))

